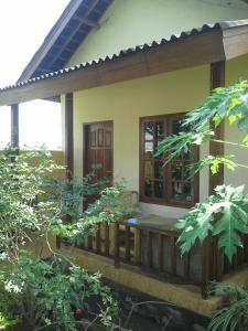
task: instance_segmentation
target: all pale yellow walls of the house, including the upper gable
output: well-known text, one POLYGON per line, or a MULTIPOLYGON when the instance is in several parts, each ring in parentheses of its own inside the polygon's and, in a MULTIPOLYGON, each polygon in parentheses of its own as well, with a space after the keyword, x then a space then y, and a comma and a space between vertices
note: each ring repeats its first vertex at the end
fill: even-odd
MULTIPOLYGON (((233 1, 228 6, 226 1, 215 3, 211 1, 114 1, 100 19, 99 25, 78 46, 65 67, 118 54, 120 50, 144 43, 160 42, 162 39, 170 39, 173 34, 191 31, 205 23, 245 19, 247 14, 248 7, 244 1, 233 1)), ((247 77, 247 62, 246 54, 227 61, 223 83, 229 85, 240 77, 247 77)), ((147 117, 151 117, 152 121, 157 116, 164 116, 161 120, 166 121, 170 115, 185 113, 200 106, 209 95, 209 90, 211 67, 209 64, 205 64, 74 93, 74 174, 82 177, 84 173, 86 152, 84 130, 87 129, 84 124, 112 121, 114 180, 119 181, 125 178, 129 190, 140 192, 140 206, 143 214, 169 217, 184 215, 185 205, 192 205, 186 199, 196 202, 203 201, 208 195, 208 184, 206 184, 209 182, 208 171, 201 173, 195 188, 188 185, 181 188, 179 182, 175 183, 175 188, 172 188, 172 177, 159 182, 155 178, 154 181, 150 181, 151 192, 147 192, 151 196, 145 196, 145 173, 142 174, 145 156, 144 152, 141 154, 144 141, 141 141, 143 132, 140 126, 147 117), (154 192, 154 185, 160 183, 163 188, 158 188, 158 192, 154 192), (195 192, 188 195, 181 193, 184 197, 175 197, 176 192, 173 193, 173 190, 176 189, 176 184, 179 192, 183 190, 187 192, 195 190, 195 192), (182 203, 176 199, 182 199, 182 203)), ((62 105, 65 105, 64 96, 62 96, 62 105)), ((238 141, 240 137, 240 132, 238 130, 236 132, 236 129, 229 128, 228 125, 225 132, 226 140, 233 140, 235 137, 238 141)), ((227 150, 228 153, 234 153, 230 148, 227 150)), ((200 158, 206 154, 209 154, 208 146, 200 150, 200 158)), ((239 161, 246 163, 242 157, 239 161)), ((149 162, 151 163, 151 160, 147 160, 148 167, 149 162)), ((152 169, 152 171, 157 170, 152 169)), ((227 183, 242 184, 242 171, 233 174, 225 170, 224 175, 227 183)))

